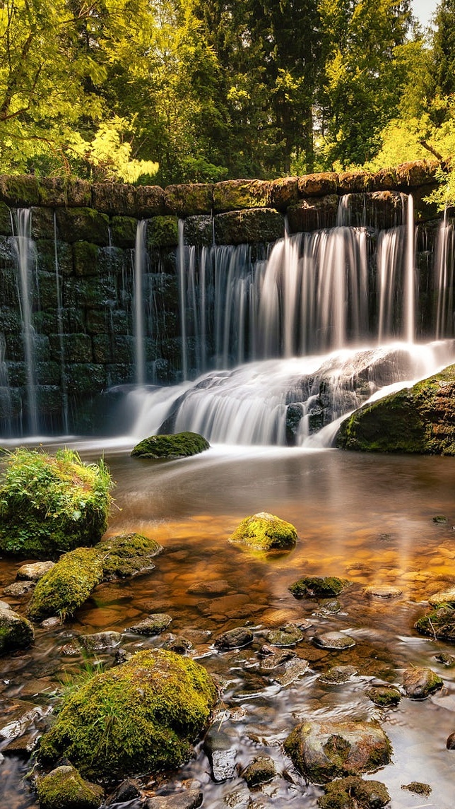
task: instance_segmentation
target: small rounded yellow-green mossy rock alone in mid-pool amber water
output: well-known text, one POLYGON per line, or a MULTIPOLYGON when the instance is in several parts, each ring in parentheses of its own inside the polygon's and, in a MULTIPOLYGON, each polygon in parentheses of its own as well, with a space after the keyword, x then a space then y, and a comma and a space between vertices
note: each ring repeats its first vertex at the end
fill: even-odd
POLYGON ((260 511, 242 519, 229 539, 255 550, 291 550, 296 546, 297 532, 286 520, 260 511))

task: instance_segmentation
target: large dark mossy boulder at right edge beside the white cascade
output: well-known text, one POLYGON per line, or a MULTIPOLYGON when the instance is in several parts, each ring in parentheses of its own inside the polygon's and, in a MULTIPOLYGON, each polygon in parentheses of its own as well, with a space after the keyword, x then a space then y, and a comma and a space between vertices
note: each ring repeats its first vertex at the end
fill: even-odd
POLYGON ((337 446, 367 452, 455 455, 455 365, 364 404, 342 422, 337 446))

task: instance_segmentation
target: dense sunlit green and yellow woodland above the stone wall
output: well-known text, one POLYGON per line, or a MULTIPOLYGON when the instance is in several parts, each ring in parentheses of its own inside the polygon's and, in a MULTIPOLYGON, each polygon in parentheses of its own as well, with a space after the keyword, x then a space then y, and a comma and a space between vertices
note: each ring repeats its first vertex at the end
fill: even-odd
POLYGON ((0 0, 0 15, 3 173, 166 185, 455 158, 455 0, 428 31, 410 0, 0 0))

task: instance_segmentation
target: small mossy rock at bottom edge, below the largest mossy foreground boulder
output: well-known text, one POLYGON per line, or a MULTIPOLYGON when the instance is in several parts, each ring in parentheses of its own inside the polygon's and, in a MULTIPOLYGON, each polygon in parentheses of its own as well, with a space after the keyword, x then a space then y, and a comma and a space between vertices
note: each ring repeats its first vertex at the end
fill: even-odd
POLYGON ((104 790, 85 781, 77 769, 62 765, 36 781, 40 809, 98 809, 104 790))

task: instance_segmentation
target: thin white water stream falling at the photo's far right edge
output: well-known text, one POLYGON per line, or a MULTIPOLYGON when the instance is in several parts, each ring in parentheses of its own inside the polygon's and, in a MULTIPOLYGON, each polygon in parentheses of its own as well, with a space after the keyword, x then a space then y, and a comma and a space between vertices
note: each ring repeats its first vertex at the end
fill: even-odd
POLYGON ((455 231, 448 222, 447 209, 440 223, 435 252, 436 340, 453 335, 453 270, 455 266, 455 231))

